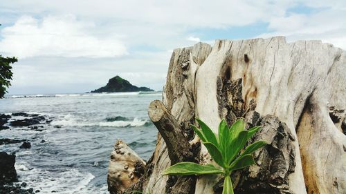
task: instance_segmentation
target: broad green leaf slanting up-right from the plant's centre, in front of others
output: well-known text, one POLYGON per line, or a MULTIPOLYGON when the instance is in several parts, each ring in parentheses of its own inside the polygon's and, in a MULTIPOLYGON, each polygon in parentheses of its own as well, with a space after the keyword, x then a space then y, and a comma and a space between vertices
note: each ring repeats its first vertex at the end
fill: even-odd
POLYGON ((238 155, 239 151, 244 148, 246 142, 248 141, 248 131, 243 130, 235 137, 235 139, 232 140, 230 143, 230 146, 228 147, 226 151, 226 161, 227 164, 230 164, 235 157, 238 155))

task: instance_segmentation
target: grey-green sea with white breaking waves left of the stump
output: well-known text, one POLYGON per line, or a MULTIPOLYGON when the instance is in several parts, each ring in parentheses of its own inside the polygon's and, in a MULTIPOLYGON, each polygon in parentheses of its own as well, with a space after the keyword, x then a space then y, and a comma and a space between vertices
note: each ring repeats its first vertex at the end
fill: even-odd
POLYGON ((21 143, 0 145, 0 151, 16 154, 19 183, 34 191, 108 193, 108 164, 116 139, 145 160, 154 151, 157 130, 147 116, 154 99, 162 99, 162 92, 7 95, 0 99, 0 113, 39 114, 51 122, 39 125, 42 131, 0 130, 0 139, 31 143, 30 149, 19 148, 21 143))

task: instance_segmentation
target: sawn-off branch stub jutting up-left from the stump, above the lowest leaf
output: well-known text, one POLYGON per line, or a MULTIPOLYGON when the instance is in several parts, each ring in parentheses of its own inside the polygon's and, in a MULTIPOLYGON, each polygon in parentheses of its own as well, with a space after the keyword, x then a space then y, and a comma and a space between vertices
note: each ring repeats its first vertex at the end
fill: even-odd
POLYGON ((171 115, 165 105, 159 100, 152 101, 149 105, 148 115, 165 139, 171 164, 192 161, 193 154, 190 151, 188 137, 184 135, 179 122, 171 115))

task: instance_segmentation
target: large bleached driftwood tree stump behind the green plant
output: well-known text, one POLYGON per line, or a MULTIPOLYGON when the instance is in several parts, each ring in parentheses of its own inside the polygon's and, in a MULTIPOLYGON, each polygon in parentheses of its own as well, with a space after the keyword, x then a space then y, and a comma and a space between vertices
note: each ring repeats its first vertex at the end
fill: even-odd
POLYGON ((233 173, 235 193, 346 193, 345 75, 345 51, 321 41, 217 40, 174 50, 161 112, 149 108, 161 133, 156 149, 126 192, 221 193, 218 176, 161 176, 175 162, 210 163, 189 126, 199 117, 215 133, 223 118, 262 126, 248 143, 268 145, 254 153, 256 165, 233 173))

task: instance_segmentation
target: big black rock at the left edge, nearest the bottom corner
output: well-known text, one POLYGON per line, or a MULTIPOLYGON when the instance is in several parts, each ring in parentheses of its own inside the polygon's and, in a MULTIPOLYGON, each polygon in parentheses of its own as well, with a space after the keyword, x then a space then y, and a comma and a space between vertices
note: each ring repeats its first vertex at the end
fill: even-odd
POLYGON ((0 185, 17 181, 15 162, 15 154, 0 152, 0 185))

